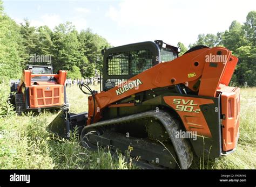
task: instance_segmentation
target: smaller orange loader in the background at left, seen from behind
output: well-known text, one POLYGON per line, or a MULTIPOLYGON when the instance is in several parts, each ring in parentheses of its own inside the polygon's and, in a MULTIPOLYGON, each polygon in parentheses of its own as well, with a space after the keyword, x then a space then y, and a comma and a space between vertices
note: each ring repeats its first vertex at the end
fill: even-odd
POLYGON ((10 83, 11 103, 16 112, 69 107, 65 89, 66 71, 52 73, 51 66, 28 65, 20 80, 10 83))

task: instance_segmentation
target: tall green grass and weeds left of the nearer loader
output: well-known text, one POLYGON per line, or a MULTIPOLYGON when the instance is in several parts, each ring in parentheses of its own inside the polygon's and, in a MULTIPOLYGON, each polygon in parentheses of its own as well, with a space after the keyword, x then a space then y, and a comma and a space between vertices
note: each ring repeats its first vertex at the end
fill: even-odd
MULTIPOLYGON (((98 88, 98 87, 97 87, 98 88)), ((133 169, 129 156, 109 150, 97 152, 79 145, 76 133, 71 140, 56 138, 46 126, 57 112, 32 112, 17 116, 8 100, 8 85, 0 85, 0 169, 133 169), (127 160, 129 162, 127 162, 127 160)), ((87 111, 87 96, 77 86, 67 89, 71 112, 87 111)))

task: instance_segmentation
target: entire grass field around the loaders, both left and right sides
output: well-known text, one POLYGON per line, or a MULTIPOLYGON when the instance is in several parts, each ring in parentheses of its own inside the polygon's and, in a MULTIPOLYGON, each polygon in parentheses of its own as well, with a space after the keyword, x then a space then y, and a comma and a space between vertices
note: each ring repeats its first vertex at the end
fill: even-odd
MULTIPOLYGON (((92 88, 92 89, 98 89, 92 88)), ((87 111, 87 95, 78 87, 67 89, 70 110, 87 111)), ((70 141, 57 139, 45 128, 57 112, 43 111, 39 116, 17 116, 6 103, 9 87, 0 85, 0 169, 136 169, 129 155, 89 152, 72 135, 70 141), (131 161, 131 162, 127 162, 131 161)), ((241 89, 240 137, 237 150, 214 160, 194 159, 192 169, 256 168, 256 88, 241 89), (204 167, 203 167, 204 166, 204 167)))

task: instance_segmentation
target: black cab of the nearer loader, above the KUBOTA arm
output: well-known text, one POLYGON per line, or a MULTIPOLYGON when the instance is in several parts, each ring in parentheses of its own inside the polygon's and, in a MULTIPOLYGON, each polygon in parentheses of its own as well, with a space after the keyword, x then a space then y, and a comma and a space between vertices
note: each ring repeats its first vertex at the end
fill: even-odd
POLYGON ((103 49, 103 91, 116 87, 158 63, 176 59, 179 52, 179 47, 162 40, 103 49))

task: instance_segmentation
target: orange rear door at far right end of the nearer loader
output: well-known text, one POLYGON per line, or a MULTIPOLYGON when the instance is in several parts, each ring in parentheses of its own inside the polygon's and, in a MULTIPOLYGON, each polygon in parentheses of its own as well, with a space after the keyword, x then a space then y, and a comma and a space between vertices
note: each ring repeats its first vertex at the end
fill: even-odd
POLYGON ((222 87, 221 113, 225 115, 222 120, 223 150, 228 151, 236 147, 239 135, 240 117, 240 89, 234 87, 222 87))

